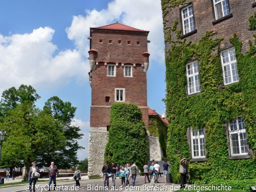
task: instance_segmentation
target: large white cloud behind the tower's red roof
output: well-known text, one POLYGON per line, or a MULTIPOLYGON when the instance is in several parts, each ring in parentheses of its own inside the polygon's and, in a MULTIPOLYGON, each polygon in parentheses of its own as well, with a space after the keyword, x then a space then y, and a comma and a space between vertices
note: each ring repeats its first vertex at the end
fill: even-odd
POLYGON ((119 21, 134 28, 150 31, 148 52, 150 59, 164 64, 164 33, 160 0, 115 0, 107 9, 87 10, 86 16, 73 16, 72 24, 66 28, 68 38, 75 42, 80 53, 88 57, 90 27, 99 27, 119 21))

